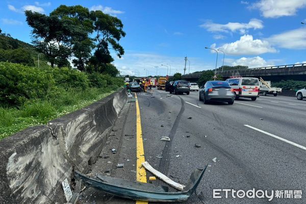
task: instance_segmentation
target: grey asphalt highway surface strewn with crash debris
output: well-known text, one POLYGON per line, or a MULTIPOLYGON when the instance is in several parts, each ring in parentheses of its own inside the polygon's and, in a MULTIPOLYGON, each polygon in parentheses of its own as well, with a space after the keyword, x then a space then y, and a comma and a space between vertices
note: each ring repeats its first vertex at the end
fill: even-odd
MULTIPOLYGON (((256 101, 238 99, 234 105, 206 105, 198 100, 198 92, 170 95, 156 89, 138 93, 137 98, 145 161, 182 184, 194 168, 208 165, 197 195, 185 203, 306 203, 306 100, 260 96, 256 101), (171 141, 161 141, 162 136, 171 141), (231 189, 227 198, 224 189, 231 189), (253 189, 257 197, 263 196, 258 190, 273 194, 233 196, 232 190, 253 189)), ((92 173, 136 180, 138 106, 125 104, 92 173)), ((82 203, 135 203, 94 189, 85 190, 81 198, 82 203)))

